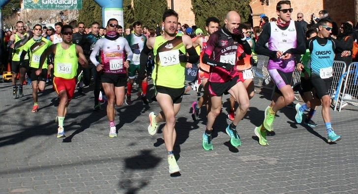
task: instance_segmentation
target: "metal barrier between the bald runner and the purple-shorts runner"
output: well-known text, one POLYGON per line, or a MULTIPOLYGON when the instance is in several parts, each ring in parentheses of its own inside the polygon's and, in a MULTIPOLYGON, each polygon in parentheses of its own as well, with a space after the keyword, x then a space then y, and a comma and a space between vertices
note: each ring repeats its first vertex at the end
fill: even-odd
POLYGON ((256 66, 252 66, 251 70, 254 74, 254 86, 259 88, 266 88, 272 90, 271 98, 274 94, 274 84, 269 85, 271 77, 267 71, 267 65, 269 63, 269 57, 265 55, 252 55, 256 66))

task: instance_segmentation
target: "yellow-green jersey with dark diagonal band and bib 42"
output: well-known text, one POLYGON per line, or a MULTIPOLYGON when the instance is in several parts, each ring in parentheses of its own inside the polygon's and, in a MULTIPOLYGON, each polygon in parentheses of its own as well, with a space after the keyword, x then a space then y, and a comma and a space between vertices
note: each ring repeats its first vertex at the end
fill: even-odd
MULTIPOLYGON (((30 54, 30 67, 38 68, 40 65, 40 56, 47 49, 52 42, 42 37, 39 41, 34 41, 31 38, 25 45, 24 51, 30 54)), ((47 57, 42 66, 42 69, 47 69, 47 57)))

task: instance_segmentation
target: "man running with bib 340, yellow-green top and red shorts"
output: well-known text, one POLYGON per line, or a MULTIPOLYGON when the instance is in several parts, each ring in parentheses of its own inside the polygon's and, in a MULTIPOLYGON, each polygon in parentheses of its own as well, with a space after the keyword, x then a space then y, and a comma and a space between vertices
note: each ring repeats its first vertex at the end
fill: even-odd
POLYGON ((81 46, 72 43, 72 26, 63 25, 61 29, 62 42, 51 45, 40 57, 40 64, 36 75, 42 73, 42 66, 49 54, 54 54, 54 88, 59 94, 60 103, 57 109, 56 121, 59 123, 57 138, 65 137, 63 120, 67 112, 67 106, 73 97, 76 86, 78 63, 88 67, 88 61, 83 54, 81 46))

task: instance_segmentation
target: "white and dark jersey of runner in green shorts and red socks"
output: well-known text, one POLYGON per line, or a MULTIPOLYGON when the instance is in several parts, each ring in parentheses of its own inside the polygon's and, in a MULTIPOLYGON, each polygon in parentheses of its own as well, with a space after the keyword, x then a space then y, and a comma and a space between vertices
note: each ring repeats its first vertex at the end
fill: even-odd
POLYGON ((125 39, 127 39, 129 47, 133 52, 133 57, 130 64, 139 65, 141 51, 144 48, 144 44, 146 44, 147 37, 143 34, 141 36, 137 36, 134 33, 131 33, 126 36, 125 39))

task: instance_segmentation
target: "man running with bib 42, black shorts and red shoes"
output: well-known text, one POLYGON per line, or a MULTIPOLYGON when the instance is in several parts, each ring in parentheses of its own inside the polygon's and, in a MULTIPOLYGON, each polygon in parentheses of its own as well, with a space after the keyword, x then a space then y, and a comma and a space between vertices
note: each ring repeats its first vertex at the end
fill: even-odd
POLYGON ((40 64, 40 56, 47 49, 52 42, 41 36, 42 27, 40 24, 33 26, 33 37, 25 45, 24 50, 21 53, 20 61, 24 61, 25 56, 30 55, 30 78, 32 82, 32 98, 34 105, 31 112, 38 111, 37 104, 37 91, 43 91, 45 89, 47 79, 47 64, 42 66, 42 72, 40 75, 36 75, 36 70, 40 64))

